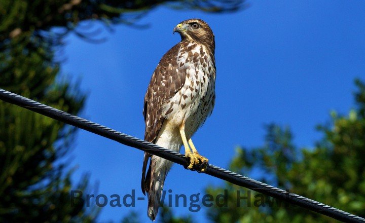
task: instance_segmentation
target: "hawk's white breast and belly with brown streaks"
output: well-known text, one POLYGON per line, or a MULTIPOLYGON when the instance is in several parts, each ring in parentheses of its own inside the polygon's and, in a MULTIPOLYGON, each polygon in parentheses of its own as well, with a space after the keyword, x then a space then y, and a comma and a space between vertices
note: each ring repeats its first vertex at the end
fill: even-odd
POLYGON ((187 137, 191 137, 211 114, 214 107, 215 64, 203 45, 182 45, 177 71, 185 72, 185 83, 162 106, 163 115, 176 125, 185 122, 187 137))

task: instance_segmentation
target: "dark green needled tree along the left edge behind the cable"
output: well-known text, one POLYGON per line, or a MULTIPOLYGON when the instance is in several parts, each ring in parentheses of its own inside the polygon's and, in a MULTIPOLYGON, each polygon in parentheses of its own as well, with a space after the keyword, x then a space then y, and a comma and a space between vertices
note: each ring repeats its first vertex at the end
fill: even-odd
MULTIPOLYGON (((85 96, 67 82, 55 82, 58 66, 47 44, 21 35, 3 45, 0 88, 77 114, 85 96), (36 47, 35 47, 36 46, 36 47)), ((0 101, 0 221, 84 221, 83 204, 71 205, 69 190, 86 190, 87 177, 71 185, 58 161, 68 150, 75 129, 0 101)))

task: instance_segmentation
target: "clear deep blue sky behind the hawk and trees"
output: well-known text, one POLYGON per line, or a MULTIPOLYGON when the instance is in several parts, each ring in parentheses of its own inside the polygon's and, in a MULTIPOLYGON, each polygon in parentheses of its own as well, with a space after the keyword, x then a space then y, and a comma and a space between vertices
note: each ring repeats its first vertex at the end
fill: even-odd
MULTIPOLYGON (((331 110, 347 114, 353 106, 353 80, 365 78, 365 2, 251 1, 233 14, 207 14, 158 7, 138 24, 104 31, 107 41, 92 44, 70 34, 61 56, 62 73, 88 93, 82 117, 143 138, 145 90, 162 55, 180 41, 173 27, 201 18, 216 42, 216 103, 212 116, 194 135, 194 144, 211 164, 227 167, 237 145, 262 145, 265 124, 290 126, 299 146, 310 147, 320 133, 315 125, 331 110)), ((96 26, 99 26, 96 24, 96 26)), ((98 194, 121 196, 140 191, 143 153, 80 130, 71 153, 74 180, 87 172, 99 182, 98 194)), ((222 180, 174 166, 165 190, 173 194, 204 193, 222 180)), ((129 211, 148 220, 147 201, 135 207, 102 208, 100 221, 118 221, 129 211)), ((177 215, 205 221, 204 209, 193 213, 174 207, 177 215)))

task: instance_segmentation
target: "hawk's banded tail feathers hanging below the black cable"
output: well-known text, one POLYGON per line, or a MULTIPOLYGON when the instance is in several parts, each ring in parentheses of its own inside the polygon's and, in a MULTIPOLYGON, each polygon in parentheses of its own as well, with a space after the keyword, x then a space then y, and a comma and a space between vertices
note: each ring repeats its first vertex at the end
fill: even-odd
POLYGON ((158 213, 158 209, 159 209, 160 201, 161 201, 161 193, 163 190, 166 173, 167 173, 167 170, 162 168, 160 171, 155 173, 153 177, 151 177, 151 181, 150 181, 151 187, 150 187, 150 191, 148 194, 149 203, 148 203, 148 211, 147 211, 147 214, 151 220, 155 220, 157 213, 158 213))

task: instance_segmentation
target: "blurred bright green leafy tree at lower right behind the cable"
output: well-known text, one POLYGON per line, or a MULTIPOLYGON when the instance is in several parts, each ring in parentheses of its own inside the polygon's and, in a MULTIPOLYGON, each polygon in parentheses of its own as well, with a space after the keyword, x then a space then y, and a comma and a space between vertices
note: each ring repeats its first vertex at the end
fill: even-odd
MULTIPOLYGON (((348 116, 333 114, 330 127, 320 126, 324 136, 314 148, 299 149, 288 128, 272 124, 267 126, 263 146, 237 148, 230 169, 242 174, 260 172, 259 180, 365 216, 365 85, 359 80, 355 83, 356 109, 348 116)), ((336 222, 231 183, 207 188, 207 193, 214 196, 224 189, 229 191, 228 206, 208 209, 214 222, 336 222), (240 196, 250 193, 250 199, 239 200, 240 207, 237 191, 240 196)))

